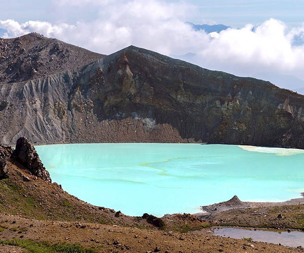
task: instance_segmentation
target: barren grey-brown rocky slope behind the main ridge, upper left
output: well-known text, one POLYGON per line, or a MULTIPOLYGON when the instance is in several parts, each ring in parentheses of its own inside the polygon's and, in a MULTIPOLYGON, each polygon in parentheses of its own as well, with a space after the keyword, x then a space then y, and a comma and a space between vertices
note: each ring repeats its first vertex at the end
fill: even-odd
POLYGON ((39 33, 0 38, 0 83, 26 81, 87 65, 104 55, 39 33))

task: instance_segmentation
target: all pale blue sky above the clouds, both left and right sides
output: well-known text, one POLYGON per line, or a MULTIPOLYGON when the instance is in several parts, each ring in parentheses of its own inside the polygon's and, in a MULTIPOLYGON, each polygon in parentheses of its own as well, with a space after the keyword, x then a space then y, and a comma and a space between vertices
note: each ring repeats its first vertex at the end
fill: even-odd
MULTIPOLYGON (((0 0, 0 18, 15 19, 19 22, 27 20, 44 20, 50 22, 74 23, 81 20, 93 20, 98 17, 98 9, 95 3, 89 3, 85 8, 69 6, 68 8, 58 7, 56 0, 51 1, 7 1, 0 0)), ((74 2, 73 0, 70 3, 74 2)), ((99 2, 104 2, 100 0, 99 2)), ((124 2, 124 1, 116 1, 124 2)), ((164 1, 166 2, 166 1, 164 1)), ((178 3, 179 0, 167 2, 178 3)), ((186 4, 194 5, 198 12, 188 17, 188 20, 197 24, 214 21, 217 24, 225 24, 232 27, 242 27, 247 23, 260 24, 269 18, 276 18, 285 22, 288 26, 302 23, 304 17, 303 0, 184 0, 186 4)))

